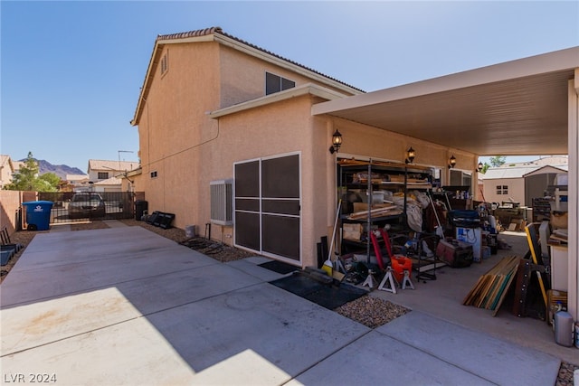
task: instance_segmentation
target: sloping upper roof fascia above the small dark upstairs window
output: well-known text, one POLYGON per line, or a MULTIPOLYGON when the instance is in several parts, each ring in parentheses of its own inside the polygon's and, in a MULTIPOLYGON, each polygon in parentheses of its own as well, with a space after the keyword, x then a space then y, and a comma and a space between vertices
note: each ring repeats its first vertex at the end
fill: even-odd
POLYGON ((336 80, 331 80, 327 77, 323 77, 321 75, 318 75, 315 72, 308 71, 302 67, 299 67, 295 64, 290 63, 289 61, 285 61, 285 60, 282 60, 280 58, 277 58, 277 57, 275 57, 267 52, 263 52, 263 51, 258 50, 256 48, 248 46, 247 44, 243 44, 242 42, 238 42, 238 41, 236 41, 228 36, 224 36, 222 34, 217 33, 214 35, 214 38, 215 38, 216 42, 220 42, 227 47, 231 47, 237 51, 244 52, 248 55, 251 55, 253 57, 261 59, 262 61, 269 61, 269 62, 271 62, 277 66, 280 66, 286 70, 299 73, 299 75, 305 76, 305 77, 313 79, 313 80, 317 80, 321 83, 327 84, 328 86, 343 90, 345 92, 348 92, 348 93, 351 93, 354 95, 359 95, 359 94, 364 93, 358 89, 353 89, 351 87, 347 87, 345 84, 337 82, 336 80))

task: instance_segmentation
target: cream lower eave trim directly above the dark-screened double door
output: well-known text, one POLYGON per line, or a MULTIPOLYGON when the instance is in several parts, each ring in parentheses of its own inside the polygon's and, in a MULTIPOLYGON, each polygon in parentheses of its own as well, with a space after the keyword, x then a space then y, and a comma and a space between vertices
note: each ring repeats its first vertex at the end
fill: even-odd
POLYGON ((238 113, 243 110, 251 108, 259 108, 261 106, 270 105, 271 103, 280 102, 282 100, 301 97, 304 95, 313 95, 322 99, 333 100, 346 98, 345 95, 340 94, 331 89, 326 89, 318 85, 308 83, 306 85, 296 87, 293 89, 286 89, 284 91, 276 92, 274 94, 266 95, 258 99, 248 100, 228 108, 220 108, 208 114, 209 118, 221 118, 230 114, 238 113))

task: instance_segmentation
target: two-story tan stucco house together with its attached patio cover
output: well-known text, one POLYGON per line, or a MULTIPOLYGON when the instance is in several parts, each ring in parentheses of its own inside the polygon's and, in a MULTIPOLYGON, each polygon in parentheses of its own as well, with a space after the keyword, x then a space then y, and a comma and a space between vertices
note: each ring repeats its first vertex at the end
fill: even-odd
MULTIPOLYGON (((480 200, 479 155, 568 154, 576 234, 577 53, 365 93, 218 27, 160 35, 131 121, 141 167, 128 177, 177 227, 211 224, 216 240, 305 267, 331 236, 339 159, 404 170, 412 148, 413 168, 442 186, 460 173, 480 200)), ((576 250, 571 241, 570 293, 576 250)))

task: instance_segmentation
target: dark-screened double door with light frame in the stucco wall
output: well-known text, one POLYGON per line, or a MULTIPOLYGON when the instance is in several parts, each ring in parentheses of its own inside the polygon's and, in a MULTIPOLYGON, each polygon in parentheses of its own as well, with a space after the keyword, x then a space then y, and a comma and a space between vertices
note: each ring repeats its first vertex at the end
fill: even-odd
POLYGON ((299 154, 235 166, 235 245, 301 260, 299 154))

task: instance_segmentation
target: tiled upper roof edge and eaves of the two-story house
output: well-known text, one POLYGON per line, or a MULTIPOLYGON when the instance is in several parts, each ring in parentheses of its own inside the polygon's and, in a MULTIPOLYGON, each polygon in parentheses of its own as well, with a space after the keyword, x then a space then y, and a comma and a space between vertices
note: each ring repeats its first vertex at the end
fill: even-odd
POLYGON ((171 33, 166 35, 158 35, 155 41, 155 47, 151 54, 151 59, 147 67, 147 73, 145 75, 145 80, 143 80, 143 87, 141 87, 140 95, 138 97, 137 108, 135 110, 135 115, 131 120, 131 125, 138 125, 138 118, 140 118, 141 111, 143 109, 143 100, 147 100, 148 89, 150 87, 150 81, 152 80, 152 74, 157 69, 158 55, 161 50, 159 46, 168 43, 182 43, 182 42, 219 42, 223 45, 232 47, 233 49, 240 50, 246 54, 260 58, 261 60, 271 61, 275 64, 288 68, 290 71, 299 72, 304 76, 312 79, 316 79, 327 85, 336 87, 337 89, 346 90, 353 94, 363 94, 365 91, 363 89, 357 89, 354 86, 350 86, 347 83, 337 80, 335 78, 329 77, 321 72, 310 69, 303 64, 299 64, 296 61, 290 61, 276 53, 264 50, 263 48, 254 45, 250 42, 245 42, 229 33, 224 33, 221 27, 211 27, 205 28, 203 30, 189 31, 186 33, 171 33))

